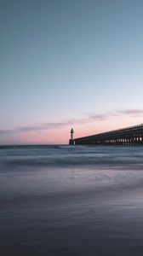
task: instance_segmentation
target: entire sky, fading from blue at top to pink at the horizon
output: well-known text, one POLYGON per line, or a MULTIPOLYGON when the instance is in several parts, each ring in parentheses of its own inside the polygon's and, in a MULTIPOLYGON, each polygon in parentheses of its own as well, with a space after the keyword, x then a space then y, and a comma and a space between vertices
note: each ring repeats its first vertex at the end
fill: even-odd
POLYGON ((142 0, 0 0, 0 144, 143 123, 142 0))

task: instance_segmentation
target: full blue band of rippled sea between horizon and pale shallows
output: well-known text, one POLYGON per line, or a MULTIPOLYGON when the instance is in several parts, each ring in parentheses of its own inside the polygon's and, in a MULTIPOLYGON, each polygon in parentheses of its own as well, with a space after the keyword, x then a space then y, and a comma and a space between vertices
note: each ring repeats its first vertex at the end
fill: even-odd
POLYGON ((143 169, 142 147, 1 146, 0 166, 143 169))

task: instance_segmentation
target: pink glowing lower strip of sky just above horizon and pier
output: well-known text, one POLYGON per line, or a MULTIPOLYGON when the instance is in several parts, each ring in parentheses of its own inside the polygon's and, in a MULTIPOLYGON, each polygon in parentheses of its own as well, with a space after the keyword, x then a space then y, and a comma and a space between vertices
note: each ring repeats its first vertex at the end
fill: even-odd
POLYGON ((16 127, 12 131, 7 131, 1 141, 2 144, 67 144, 71 128, 76 138, 139 125, 142 120, 141 109, 94 114, 88 118, 64 120, 60 123, 16 127))

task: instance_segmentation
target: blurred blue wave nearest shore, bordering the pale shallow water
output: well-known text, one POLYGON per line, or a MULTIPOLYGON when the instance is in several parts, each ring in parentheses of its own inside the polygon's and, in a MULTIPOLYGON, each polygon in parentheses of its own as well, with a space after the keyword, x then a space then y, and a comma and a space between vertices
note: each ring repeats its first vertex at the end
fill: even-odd
POLYGON ((129 168, 129 169, 143 169, 143 161, 135 159, 95 159, 93 158, 44 158, 44 159, 13 159, 1 161, 3 166, 50 166, 50 167, 67 167, 67 166, 81 166, 81 167, 110 167, 110 168, 129 168))

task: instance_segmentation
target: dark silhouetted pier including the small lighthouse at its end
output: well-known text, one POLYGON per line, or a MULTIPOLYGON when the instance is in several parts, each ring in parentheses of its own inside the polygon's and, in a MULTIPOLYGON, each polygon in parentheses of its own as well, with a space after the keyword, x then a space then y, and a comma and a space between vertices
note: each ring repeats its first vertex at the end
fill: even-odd
MULTIPOLYGON (((72 129, 73 135, 73 129, 72 129)), ((87 137, 79 137, 69 141, 70 145, 143 145, 143 124, 107 131, 87 137)))

